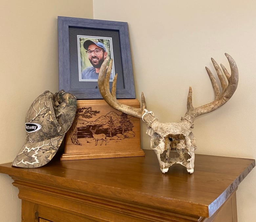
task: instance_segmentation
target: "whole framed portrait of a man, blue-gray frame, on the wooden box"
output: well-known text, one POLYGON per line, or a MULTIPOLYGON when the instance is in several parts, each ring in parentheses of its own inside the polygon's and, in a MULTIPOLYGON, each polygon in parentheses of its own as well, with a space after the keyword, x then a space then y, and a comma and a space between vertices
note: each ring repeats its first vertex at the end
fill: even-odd
POLYGON ((59 89, 77 99, 102 99, 98 72, 112 60, 110 88, 116 73, 117 99, 134 99, 128 24, 126 22, 58 16, 59 89))

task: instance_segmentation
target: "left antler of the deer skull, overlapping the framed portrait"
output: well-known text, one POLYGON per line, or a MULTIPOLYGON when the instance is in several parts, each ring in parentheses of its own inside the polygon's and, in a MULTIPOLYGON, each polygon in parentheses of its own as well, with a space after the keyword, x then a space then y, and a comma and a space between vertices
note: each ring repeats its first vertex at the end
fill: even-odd
POLYGON ((109 78, 111 74, 111 69, 112 69, 112 59, 109 62, 109 56, 104 60, 100 67, 99 71, 99 77, 98 77, 98 88, 100 91, 100 94, 102 95, 103 99, 113 108, 127 113, 132 116, 136 116, 138 118, 142 117, 143 110, 146 109, 146 102, 145 102, 145 97, 143 92, 141 93, 141 108, 135 108, 131 106, 127 106, 124 104, 121 104, 117 101, 116 98, 116 84, 117 84, 117 74, 114 77, 113 84, 112 84, 112 90, 110 93, 109 90, 109 78), (107 68, 108 65, 108 68, 107 68), (107 69, 107 71, 106 71, 107 69))

